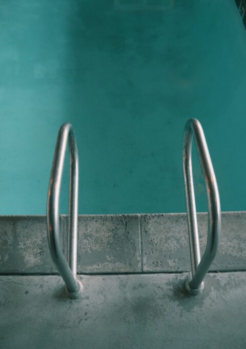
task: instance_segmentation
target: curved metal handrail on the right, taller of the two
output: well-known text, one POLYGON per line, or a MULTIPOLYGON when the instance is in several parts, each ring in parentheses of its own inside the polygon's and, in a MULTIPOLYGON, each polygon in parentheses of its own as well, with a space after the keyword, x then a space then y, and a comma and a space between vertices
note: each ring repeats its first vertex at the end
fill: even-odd
POLYGON ((186 188, 187 222, 190 242, 192 279, 186 282, 186 289, 193 295, 203 288, 203 279, 216 256, 219 247, 221 226, 220 199, 217 181, 203 129, 197 119, 186 123, 183 134, 183 175, 186 188), (200 246, 196 217, 196 201, 192 175, 192 139, 194 137, 201 171, 208 196, 208 240, 206 250, 200 259, 200 246))

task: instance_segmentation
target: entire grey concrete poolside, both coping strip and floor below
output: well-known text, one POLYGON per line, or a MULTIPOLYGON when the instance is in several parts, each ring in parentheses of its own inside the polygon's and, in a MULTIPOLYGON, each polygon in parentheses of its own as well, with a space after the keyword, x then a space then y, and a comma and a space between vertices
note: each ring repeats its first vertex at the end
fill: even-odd
MULTIPOLYGON (((79 216, 69 299, 50 258, 45 216, 0 217, 0 348, 244 348, 246 212, 222 212, 218 255, 187 295, 186 214, 79 216), (83 275, 82 275, 83 274, 83 275)), ((66 251, 67 216, 60 217, 66 251)), ((198 214, 201 250, 207 214, 198 214)))

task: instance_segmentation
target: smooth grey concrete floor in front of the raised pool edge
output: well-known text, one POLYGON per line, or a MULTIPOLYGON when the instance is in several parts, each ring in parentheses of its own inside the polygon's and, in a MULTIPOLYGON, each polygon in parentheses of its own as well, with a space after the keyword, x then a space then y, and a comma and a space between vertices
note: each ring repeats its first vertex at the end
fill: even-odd
POLYGON ((188 296, 186 274, 84 276, 70 300, 57 276, 0 277, 0 347, 244 348, 246 272, 209 274, 188 296))

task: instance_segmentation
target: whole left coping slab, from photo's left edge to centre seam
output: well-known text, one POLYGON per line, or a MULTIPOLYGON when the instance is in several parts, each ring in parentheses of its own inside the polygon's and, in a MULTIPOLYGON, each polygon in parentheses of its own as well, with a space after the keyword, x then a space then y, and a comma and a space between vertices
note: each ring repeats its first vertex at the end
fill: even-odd
MULTIPOLYGON (((67 217, 60 216, 60 228, 66 254, 67 217)), ((2 216, 0 231, 0 273, 57 273, 46 216, 2 216)), ((140 273, 139 236, 138 215, 79 216, 78 273, 140 273)))

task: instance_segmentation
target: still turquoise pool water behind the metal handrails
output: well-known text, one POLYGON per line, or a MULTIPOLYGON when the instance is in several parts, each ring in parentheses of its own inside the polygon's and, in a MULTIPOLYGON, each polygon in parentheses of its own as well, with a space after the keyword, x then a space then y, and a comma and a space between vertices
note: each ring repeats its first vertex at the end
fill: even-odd
MULTIPOLYGON (((221 209, 245 209, 246 31, 233 0, 15 0, 0 4, 0 23, 2 215, 45 214, 65 121, 78 139, 80 214, 185 211, 191 117, 207 137, 221 209)), ((68 184, 67 162, 61 212, 68 184)))

